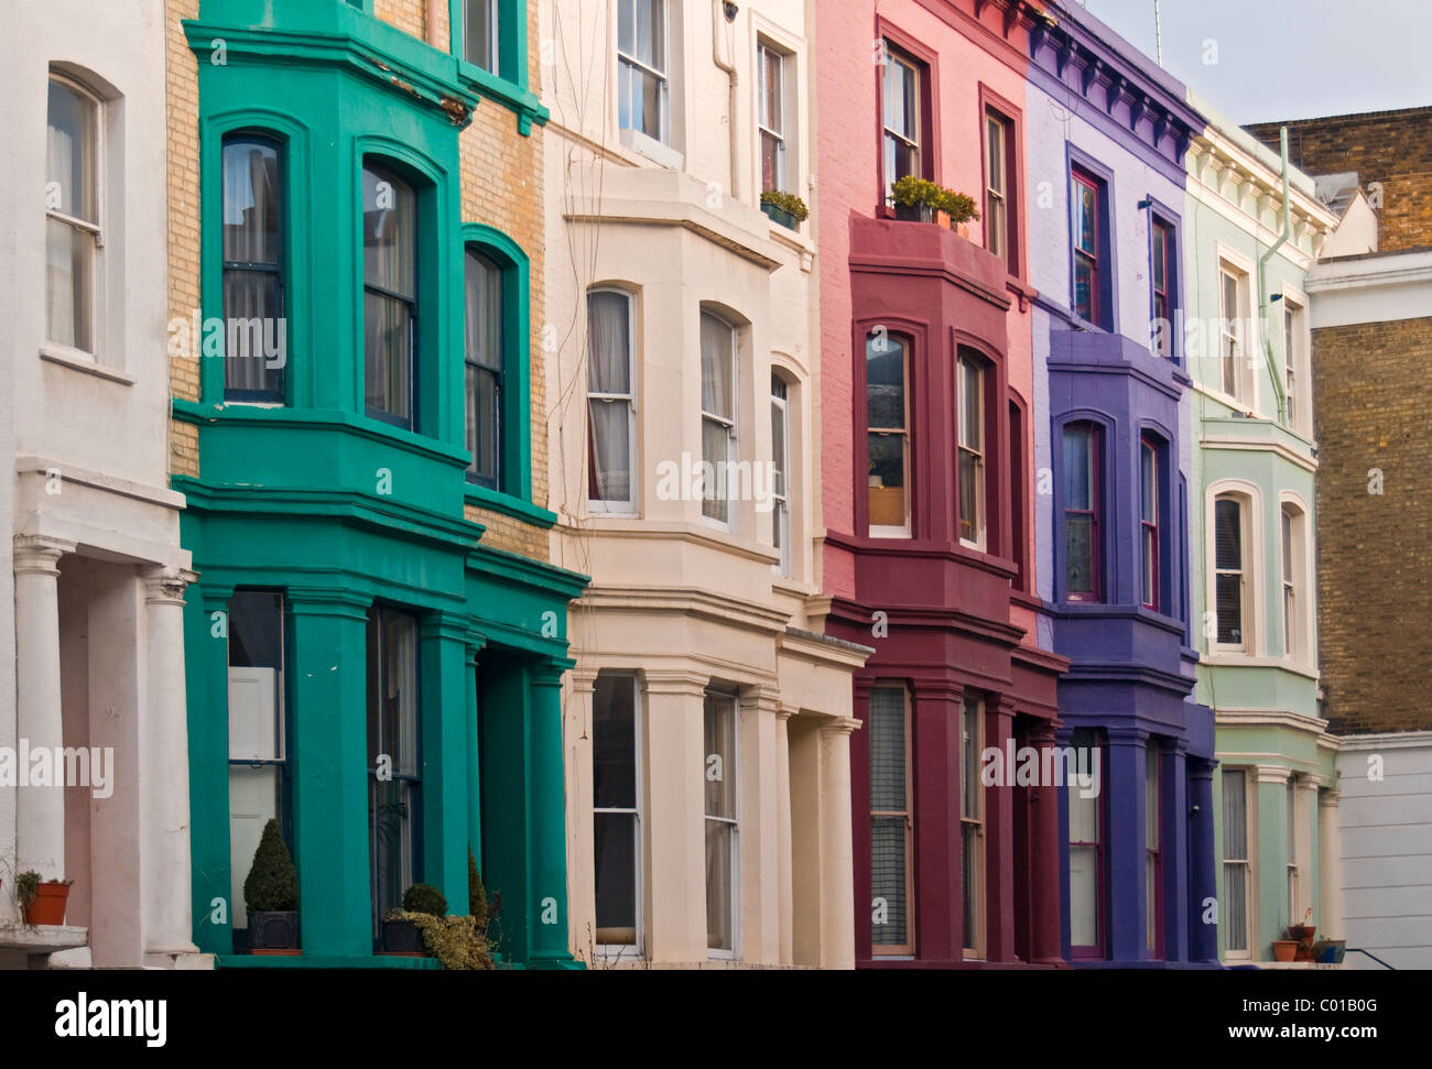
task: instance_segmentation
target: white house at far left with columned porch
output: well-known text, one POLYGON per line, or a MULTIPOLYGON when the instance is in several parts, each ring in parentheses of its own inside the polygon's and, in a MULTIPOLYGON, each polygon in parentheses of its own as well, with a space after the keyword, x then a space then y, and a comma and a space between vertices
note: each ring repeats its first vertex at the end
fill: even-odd
POLYGON ((163 27, 162 0, 6 6, 0 966, 208 962, 190 942, 163 27), (69 786, 34 757, 56 748, 69 786), (64 926, 17 923, 26 870, 73 880, 64 926))

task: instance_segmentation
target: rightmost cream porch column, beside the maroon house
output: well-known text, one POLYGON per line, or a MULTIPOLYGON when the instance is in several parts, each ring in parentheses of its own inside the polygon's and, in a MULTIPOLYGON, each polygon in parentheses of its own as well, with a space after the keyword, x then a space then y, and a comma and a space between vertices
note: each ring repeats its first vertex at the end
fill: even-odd
POLYGON ((821 724, 821 967, 855 967, 855 861, 851 850, 852 717, 821 724))

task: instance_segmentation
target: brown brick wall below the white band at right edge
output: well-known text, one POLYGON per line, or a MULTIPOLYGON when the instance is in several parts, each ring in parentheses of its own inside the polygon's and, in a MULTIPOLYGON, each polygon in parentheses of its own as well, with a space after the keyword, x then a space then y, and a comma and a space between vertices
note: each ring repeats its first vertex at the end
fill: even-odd
POLYGON ((1432 319, 1313 332, 1317 627, 1330 730, 1425 728, 1432 675, 1432 319), (1370 469, 1383 492, 1369 494, 1370 469))

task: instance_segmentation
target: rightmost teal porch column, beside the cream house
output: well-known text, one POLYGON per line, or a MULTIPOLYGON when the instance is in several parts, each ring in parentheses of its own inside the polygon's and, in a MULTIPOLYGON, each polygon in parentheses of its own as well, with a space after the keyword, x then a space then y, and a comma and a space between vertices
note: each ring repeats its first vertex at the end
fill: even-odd
POLYGON ((561 761, 561 674, 570 661, 533 665, 528 724, 528 889, 533 922, 527 932, 534 967, 576 967, 569 949, 567 783, 561 761))

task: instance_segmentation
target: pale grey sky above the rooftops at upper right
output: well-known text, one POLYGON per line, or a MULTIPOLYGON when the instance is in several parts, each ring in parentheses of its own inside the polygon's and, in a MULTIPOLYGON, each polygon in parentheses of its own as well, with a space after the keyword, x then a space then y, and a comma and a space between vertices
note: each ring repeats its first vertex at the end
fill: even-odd
MULTIPOLYGON (((1154 56, 1154 0, 1083 3, 1154 56)), ((1236 123, 1432 104, 1432 0, 1161 0, 1163 64, 1236 123)))

